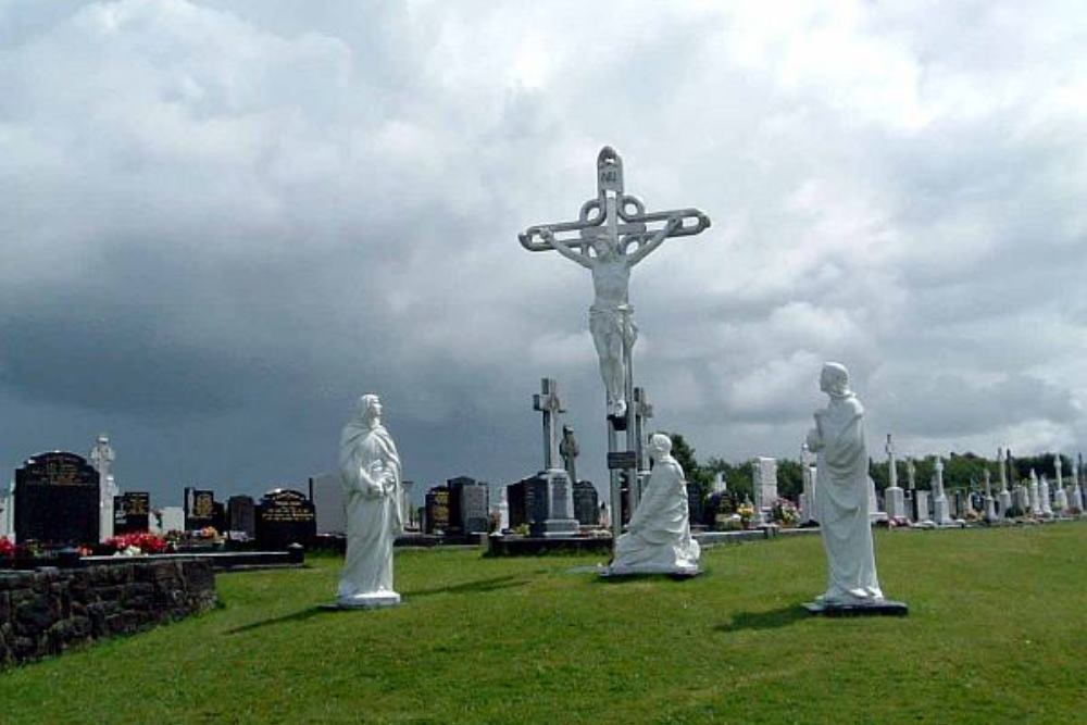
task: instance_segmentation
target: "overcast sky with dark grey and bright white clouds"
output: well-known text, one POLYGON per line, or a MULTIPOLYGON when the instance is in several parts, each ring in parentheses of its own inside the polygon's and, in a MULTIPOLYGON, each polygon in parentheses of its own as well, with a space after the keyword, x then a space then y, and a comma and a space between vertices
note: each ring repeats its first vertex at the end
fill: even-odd
POLYGON ((302 486, 378 392, 405 476, 604 479, 576 217, 600 147, 713 226, 633 274, 652 427, 796 457, 847 364, 870 453, 1087 441, 1077 2, 0 0, 0 467, 177 504, 302 486), (902 10, 909 5, 908 10, 902 10))

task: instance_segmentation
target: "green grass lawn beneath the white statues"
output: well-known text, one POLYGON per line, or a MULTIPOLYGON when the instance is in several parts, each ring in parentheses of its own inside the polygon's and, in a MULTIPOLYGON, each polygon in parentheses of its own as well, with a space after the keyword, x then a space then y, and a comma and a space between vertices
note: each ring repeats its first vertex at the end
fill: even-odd
POLYGON ((0 674, 0 722, 1087 723, 1087 523, 878 532, 876 559, 908 617, 803 612, 817 537, 686 582, 402 551, 372 612, 316 609, 338 559, 220 575, 208 614, 0 674))

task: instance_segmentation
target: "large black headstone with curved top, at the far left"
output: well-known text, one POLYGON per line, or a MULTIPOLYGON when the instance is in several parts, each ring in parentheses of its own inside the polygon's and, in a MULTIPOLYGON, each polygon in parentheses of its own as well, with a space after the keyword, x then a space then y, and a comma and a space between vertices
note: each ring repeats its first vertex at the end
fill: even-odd
POLYGON ((35 455, 15 470, 15 537, 49 546, 97 543, 99 476, 75 453, 35 455))

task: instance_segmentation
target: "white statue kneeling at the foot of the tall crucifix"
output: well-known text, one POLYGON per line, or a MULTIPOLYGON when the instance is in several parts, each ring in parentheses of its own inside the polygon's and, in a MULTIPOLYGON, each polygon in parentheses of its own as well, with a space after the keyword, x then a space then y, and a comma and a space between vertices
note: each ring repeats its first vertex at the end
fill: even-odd
POLYGON ((601 573, 698 574, 698 541, 690 536, 687 483, 672 458, 672 440, 654 434, 649 440, 653 471, 630 516, 626 534, 615 540, 612 563, 601 573))

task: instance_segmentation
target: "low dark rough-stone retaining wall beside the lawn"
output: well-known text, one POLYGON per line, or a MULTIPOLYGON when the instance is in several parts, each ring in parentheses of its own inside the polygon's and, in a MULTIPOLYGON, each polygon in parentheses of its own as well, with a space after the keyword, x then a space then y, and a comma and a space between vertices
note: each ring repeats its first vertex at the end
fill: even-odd
POLYGON ((205 561, 0 572, 0 668, 214 604, 205 561))

